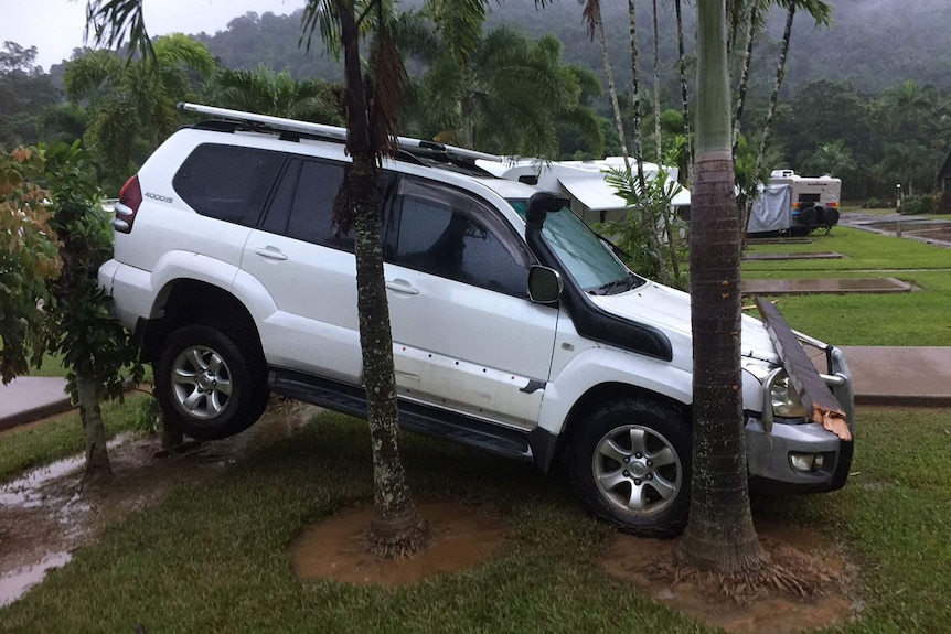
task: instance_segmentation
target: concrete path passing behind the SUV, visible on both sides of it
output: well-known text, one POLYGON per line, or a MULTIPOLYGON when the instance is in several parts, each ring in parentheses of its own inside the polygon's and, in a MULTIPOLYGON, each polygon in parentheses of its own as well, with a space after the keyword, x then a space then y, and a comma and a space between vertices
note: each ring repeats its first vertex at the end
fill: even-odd
MULTIPOLYGON (((843 346, 856 405, 951 407, 951 347, 843 346)), ((68 411, 66 379, 0 384, 0 430, 68 411)))

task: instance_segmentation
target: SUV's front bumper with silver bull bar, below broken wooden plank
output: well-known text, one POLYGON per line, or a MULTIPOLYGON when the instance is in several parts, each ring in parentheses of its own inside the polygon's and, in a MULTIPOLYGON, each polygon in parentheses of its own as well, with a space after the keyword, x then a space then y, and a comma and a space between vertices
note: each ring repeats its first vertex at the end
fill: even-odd
MULTIPOLYGON (((820 373, 845 411, 854 438, 855 401, 845 355, 841 350, 799 335, 804 344, 825 354, 826 372, 820 373)), ((781 368, 780 368, 781 369, 781 368)), ((763 382, 763 411, 746 421, 747 463, 750 482, 758 490, 821 492, 841 488, 852 465, 852 440, 844 441, 818 422, 773 416, 772 384, 780 372, 763 382)))

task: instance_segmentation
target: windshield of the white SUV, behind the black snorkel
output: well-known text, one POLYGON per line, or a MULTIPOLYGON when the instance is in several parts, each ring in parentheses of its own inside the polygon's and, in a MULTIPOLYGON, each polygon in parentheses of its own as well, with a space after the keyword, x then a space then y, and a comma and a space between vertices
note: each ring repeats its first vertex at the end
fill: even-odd
MULTIPOLYGON (((525 218, 527 201, 509 201, 509 204, 525 218)), ((644 283, 567 207, 547 215, 542 235, 568 273, 586 292, 616 294, 644 283)))

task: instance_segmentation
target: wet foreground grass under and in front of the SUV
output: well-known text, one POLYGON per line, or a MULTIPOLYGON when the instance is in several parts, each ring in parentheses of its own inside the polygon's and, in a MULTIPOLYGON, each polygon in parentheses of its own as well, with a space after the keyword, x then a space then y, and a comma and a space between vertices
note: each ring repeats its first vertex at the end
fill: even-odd
MULTIPOLYGON (((862 409, 841 492, 760 501, 757 516, 821 530, 862 565, 861 619, 834 632, 939 632, 951 623, 951 413, 862 409)), ((713 632, 595 562, 612 529, 564 475, 404 434, 418 498, 499 513, 507 542, 485 566, 403 589, 300 582, 288 546, 309 523, 372 499, 365 423, 322 415, 223 476, 81 548, 0 631, 713 632)))

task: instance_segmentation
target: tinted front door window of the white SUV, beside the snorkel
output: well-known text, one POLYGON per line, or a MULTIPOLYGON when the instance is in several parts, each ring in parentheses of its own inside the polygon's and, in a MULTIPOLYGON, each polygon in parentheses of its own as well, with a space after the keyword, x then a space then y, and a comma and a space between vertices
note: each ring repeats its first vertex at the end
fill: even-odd
POLYGON ((525 297, 527 256, 491 208, 431 183, 406 180, 399 193, 396 264, 525 297))

